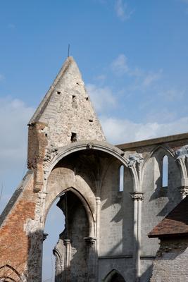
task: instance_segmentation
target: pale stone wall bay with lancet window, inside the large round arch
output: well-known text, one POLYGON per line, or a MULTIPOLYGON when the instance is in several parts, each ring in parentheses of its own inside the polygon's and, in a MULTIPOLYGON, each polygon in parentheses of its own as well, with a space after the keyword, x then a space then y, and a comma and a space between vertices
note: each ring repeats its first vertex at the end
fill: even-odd
POLYGON ((124 169, 124 189, 120 192, 120 162, 113 161, 101 186, 100 257, 132 255, 133 201, 130 192, 132 177, 129 169, 124 169))

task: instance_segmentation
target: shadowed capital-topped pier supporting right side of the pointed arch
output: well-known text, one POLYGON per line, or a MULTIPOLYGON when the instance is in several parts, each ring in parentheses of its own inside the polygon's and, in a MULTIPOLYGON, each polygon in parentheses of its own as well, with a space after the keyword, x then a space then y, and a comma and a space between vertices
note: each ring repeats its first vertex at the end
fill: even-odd
POLYGON ((85 237, 87 245, 87 282, 96 281, 96 238, 85 237))

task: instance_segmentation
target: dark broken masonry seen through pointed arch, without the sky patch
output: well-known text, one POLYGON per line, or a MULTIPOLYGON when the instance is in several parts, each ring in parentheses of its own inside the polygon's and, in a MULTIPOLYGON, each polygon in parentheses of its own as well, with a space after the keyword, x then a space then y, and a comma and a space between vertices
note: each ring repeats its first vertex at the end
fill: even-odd
POLYGON ((76 281, 79 277, 86 282, 90 276, 94 276, 92 262, 96 257, 96 240, 89 237, 87 209, 73 189, 61 195, 57 206, 65 214, 65 229, 54 248, 55 281, 76 281))

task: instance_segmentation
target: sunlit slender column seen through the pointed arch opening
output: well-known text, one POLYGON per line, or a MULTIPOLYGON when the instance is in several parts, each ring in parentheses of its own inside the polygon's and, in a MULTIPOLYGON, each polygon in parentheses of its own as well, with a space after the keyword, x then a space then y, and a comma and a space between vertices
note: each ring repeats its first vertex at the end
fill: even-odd
POLYGON ((63 281, 70 282, 70 259, 71 259, 70 239, 64 239, 63 245, 65 246, 63 281))

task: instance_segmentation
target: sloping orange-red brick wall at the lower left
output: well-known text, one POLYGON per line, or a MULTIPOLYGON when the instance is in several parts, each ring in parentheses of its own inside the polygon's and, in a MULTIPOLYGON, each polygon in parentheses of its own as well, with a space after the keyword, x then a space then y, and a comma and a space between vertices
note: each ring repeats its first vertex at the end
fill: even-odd
MULTIPOLYGON (((33 193, 33 178, 27 183, 25 190, 15 202, 11 212, 0 229, 0 267, 6 264, 10 265, 24 274, 27 266, 27 255, 30 242, 24 231, 24 225, 27 219, 35 218, 36 193, 33 193)), ((15 278, 16 274, 7 270, 0 269, 0 277, 10 275, 15 278)), ((18 281, 18 276, 16 278, 18 281)))

